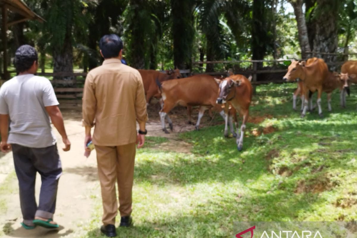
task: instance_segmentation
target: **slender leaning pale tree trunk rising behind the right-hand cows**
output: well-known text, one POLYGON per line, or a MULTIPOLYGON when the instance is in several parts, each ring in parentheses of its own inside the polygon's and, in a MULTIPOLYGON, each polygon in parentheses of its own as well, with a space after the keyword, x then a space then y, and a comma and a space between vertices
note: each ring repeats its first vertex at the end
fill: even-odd
POLYGON ((289 2, 291 3, 294 9, 294 14, 297 22, 301 58, 307 59, 308 55, 306 54, 306 52, 311 51, 311 48, 309 45, 309 37, 307 35, 305 14, 302 11, 303 0, 289 0, 289 2))

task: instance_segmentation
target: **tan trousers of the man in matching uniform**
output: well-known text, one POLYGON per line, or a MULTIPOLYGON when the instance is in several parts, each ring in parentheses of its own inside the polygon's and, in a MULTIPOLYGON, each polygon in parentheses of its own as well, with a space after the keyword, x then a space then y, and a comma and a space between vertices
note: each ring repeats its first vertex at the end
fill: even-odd
POLYGON ((115 182, 118 182, 120 216, 131 214, 134 180, 135 143, 122 146, 95 146, 98 175, 102 191, 103 224, 115 225, 118 203, 115 182))

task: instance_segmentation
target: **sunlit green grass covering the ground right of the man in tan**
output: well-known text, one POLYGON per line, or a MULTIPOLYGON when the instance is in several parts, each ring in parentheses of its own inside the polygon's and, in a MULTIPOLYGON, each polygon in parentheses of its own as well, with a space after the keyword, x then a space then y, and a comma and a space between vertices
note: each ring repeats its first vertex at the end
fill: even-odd
MULTIPOLYGON (((191 154, 161 151, 166 139, 148 138, 136 157, 135 226, 119 228, 119 237, 233 237, 235 221, 356 220, 357 87, 347 108, 336 91, 333 112, 323 95, 325 117, 315 110, 301 119, 292 110, 295 86, 257 88, 251 116, 271 116, 247 123, 242 152, 223 125, 182 133, 191 154), (267 126, 276 131, 252 135, 267 126)), ((100 223, 98 205, 84 237, 99 237, 100 223)))

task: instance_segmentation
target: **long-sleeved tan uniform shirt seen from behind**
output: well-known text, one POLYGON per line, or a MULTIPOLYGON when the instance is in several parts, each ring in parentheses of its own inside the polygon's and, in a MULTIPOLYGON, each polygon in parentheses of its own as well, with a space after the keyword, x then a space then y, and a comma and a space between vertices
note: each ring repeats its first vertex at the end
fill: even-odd
POLYGON ((120 146, 135 142, 136 121, 147 121, 139 72, 119 59, 104 60, 102 66, 87 75, 82 113, 84 126, 95 124, 94 145, 120 146))

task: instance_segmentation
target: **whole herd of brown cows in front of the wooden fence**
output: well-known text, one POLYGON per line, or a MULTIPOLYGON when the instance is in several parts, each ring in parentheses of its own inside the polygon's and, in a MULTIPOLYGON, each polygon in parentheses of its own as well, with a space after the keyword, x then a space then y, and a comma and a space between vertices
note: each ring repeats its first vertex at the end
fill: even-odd
MULTIPOLYGON (((228 77, 219 79, 207 75, 193 75, 183 78, 180 70, 167 70, 161 73, 155 70, 139 70, 146 95, 146 102, 149 105, 152 97, 160 99, 161 110, 160 121, 162 130, 169 133, 165 120, 169 123, 172 131, 173 125, 169 112, 177 105, 187 107, 188 123, 191 123, 191 111, 193 106, 199 107, 196 130, 199 129, 203 113, 209 110, 219 112, 225 120, 224 136, 228 137, 228 123, 234 137, 236 137, 239 151, 243 147, 243 138, 246 122, 249 117, 249 107, 252 101, 253 87, 251 79, 243 75, 233 75, 228 71, 228 77), (237 112, 243 117, 242 125, 239 128, 237 112), (233 121, 235 122, 236 132, 233 121)), ((296 109, 296 98, 300 95, 302 100, 301 117, 306 115, 306 111, 312 110, 312 94, 317 91, 318 113, 322 117, 321 94, 327 93, 328 110, 331 111, 331 93, 335 89, 340 90, 341 106, 346 106, 346 93, 349 95, 351 83, 357 83, 357 61, 348 61, 342 65, 341 73, 330 72, 322 59, 311 58, 307 61, 291 62, 286 75, 283 77, 287 81, 298 81, 298 87, 293 93, 293 108, 296 109)))

